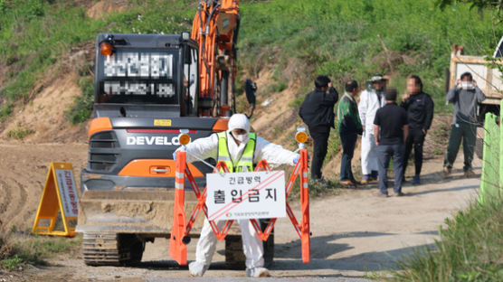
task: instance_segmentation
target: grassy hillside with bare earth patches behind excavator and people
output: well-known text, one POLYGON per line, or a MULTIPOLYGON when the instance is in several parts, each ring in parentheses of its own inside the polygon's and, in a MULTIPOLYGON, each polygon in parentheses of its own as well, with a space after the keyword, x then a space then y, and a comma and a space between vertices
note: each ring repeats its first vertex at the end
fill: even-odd
MULTIPOLYGON (((0 4, 0 138, 33 143, 85 142, 97 33, 180 33, 190 30, 197 7, 197 1, 181 0, 0 4)), ((382 72, 403 90, 405 77, 416 73, 437 111, 445 112, 443 71, 451 44, 481 54, 503 33, 487 11, 468 5, 441 11, 435 0, 395 0, 394 5, 242 0, 241 7, 239 89, 245 79, 257 81, 253 127, 289 148, 296 146, 293 134, 302 125, 299 104, 316 75, 329 75, 342 95, 341 85, 350 78, 363 86, 372 73, 382 72)), ((246 111, 243 99, 239 108, 246 111)), ((334 133, 329 158, 337 151, 334 133)))

